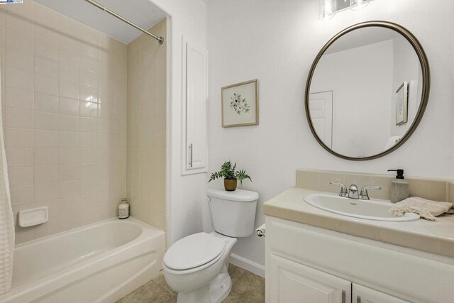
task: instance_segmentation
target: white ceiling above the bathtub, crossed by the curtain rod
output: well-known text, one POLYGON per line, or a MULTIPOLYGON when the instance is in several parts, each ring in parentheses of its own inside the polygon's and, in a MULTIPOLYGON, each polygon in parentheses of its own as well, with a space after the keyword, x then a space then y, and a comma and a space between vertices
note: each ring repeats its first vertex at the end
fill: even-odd
MULTIPOLYGON (((84 0, 34 1, 126 44, 142 34, 127 23, 84 0)), ((167 16, 150 0, 96 0, 96 2, 145 29, 151 28, 167 16)))

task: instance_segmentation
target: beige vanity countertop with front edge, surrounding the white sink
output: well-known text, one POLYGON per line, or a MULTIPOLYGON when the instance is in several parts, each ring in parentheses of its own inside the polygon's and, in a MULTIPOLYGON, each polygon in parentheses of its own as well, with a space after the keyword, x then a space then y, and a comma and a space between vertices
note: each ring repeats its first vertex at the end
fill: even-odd
POLYGON ((263 213, 289 221, 348 233, 454 258, 454 215, 438 216, 438 221, 389 222, 357 219, 333 214, 307 204, 304 197, 315 191, 292 187, 268 200, 263 213))

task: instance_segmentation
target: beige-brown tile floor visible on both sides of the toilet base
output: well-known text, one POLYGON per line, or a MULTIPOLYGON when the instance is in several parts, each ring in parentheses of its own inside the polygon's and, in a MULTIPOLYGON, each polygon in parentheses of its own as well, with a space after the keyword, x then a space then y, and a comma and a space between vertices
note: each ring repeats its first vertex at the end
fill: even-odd
MULTIPOLYGON (((224 303, 265 302, 265 279, 252 272, 230 265, 228 272, 232 279, 232 290, 224 303)), ((140 286, 116 303, 167 303, 177 302, 177 293, 167 286, 162 271, 153 280, 140 286)))

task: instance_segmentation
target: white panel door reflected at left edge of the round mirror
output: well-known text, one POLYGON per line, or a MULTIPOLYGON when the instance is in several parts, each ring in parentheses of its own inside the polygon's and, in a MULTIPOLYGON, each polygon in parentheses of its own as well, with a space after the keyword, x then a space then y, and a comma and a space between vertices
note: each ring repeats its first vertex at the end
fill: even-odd
POLYGON ((309 109, 317 135, 333 148, 333 91, 309 94, 309 109))

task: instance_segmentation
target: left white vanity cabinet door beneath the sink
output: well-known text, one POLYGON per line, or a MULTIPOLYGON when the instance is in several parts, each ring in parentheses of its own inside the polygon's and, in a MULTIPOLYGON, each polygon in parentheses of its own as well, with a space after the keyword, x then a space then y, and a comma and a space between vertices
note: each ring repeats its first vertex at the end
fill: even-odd
POLYGON ((278 255, 270 258, 268 303, 351 303, 350 281, 278 255))

